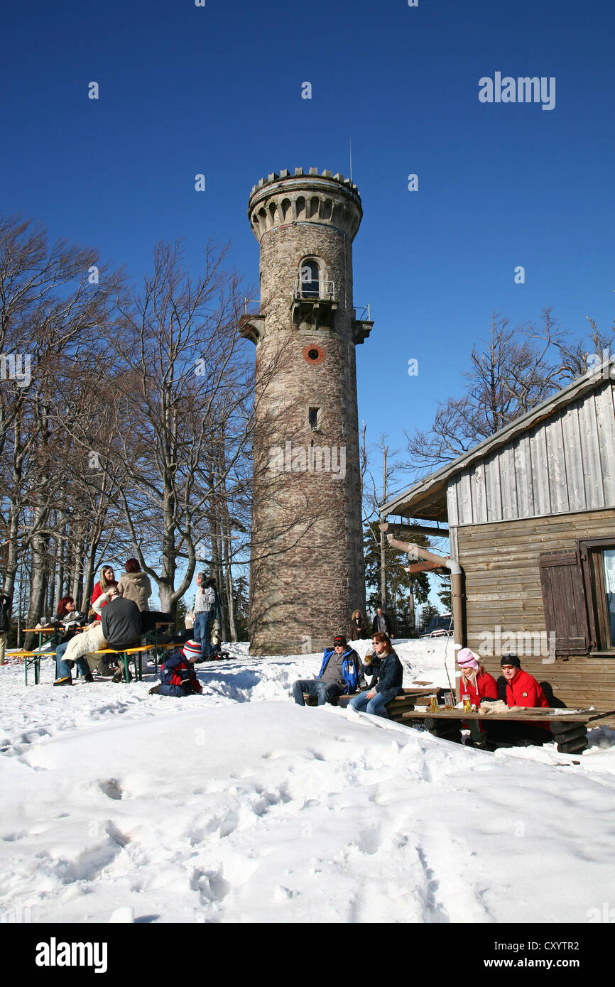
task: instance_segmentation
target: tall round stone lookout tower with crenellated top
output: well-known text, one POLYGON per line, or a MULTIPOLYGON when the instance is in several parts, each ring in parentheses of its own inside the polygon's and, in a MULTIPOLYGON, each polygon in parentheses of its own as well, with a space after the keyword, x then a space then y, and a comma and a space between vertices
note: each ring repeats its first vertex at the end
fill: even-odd
MULTIPOLYGON (((318 651, 365 612, 352 300, 355 185, 296 168, 261 179, 248 216, 261 244, 251 559, 252 654, 318 651)), ((367 316, 367 318, 364 318, 367 316)))

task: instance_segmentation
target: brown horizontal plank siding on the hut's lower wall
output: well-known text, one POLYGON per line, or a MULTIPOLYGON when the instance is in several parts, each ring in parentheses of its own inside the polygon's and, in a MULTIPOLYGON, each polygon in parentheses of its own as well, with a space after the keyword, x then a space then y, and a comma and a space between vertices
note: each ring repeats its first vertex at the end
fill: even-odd
MULTIPOLYGON (((577 538, 611 537, 615 539, 615 508, 455 529, 451 545, 465 573, 468 646, 485 654, 486 635, 492 635, 495 646, 500 628, 500 652, 485 655, 489 672, 496 678, 500 675, 508 635, 528 645, 529 635, 542 635, 534 637, 532 644, 544 645, 548 651, 539 556, 574 551, 577 538), (520 637, 524 635, 527 639, 520 637)), ((615 708, 615 652, 613 657, 579 654, 555 661, 548 653, 525 657, 518 653, 522 667, 539 682, 549 682, 567 707, 615 708)))

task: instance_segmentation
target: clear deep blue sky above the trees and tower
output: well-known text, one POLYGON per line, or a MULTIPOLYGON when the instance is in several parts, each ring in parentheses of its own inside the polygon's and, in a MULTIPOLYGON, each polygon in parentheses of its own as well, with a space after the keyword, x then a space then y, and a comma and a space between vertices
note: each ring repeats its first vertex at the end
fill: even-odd
POLYGON ((351 139, 354 300, 374 319, 359 417, 401 447, 461 389, 492 311, 515 326, 553 306, 576 337, 587 315, 612 324, 614 28, 603 0, 15 4, 0 208, 135 279, 160 239, 184 238, 194 273, 207 239, 230 240, 248 291, 252 186, 299 165, 347 175, 351 139), (497 71, 554 76, 555 109, 480 103, 497 71))

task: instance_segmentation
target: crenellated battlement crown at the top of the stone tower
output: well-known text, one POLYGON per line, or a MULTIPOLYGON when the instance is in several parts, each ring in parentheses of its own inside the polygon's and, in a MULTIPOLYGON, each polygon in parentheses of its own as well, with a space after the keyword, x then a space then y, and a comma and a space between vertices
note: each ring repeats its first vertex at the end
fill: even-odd
POLYGON ((335 226, 354 239, 363 215, 358 189, 338 172, 317 168, 304 172, 287 168, 272 172, 253 186, 248 218, 257 240, 270 230, 290 223, 321 223, 335 226))

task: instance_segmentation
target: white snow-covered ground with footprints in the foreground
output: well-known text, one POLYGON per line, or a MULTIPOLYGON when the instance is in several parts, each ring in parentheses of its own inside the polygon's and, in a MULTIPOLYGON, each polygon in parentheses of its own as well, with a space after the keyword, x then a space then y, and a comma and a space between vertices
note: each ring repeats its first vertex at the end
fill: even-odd
MULTIPOLYGON (((397 649, 405 685, 446 685, 445 651, 454 682, 451 642, 397 649)), ((320 655, 230 650, 185 700, 148 696, 153 668, 0 667, 0 920, 584 923, 612 899, 608 729, 489 754, 296 707, 320 655)))

